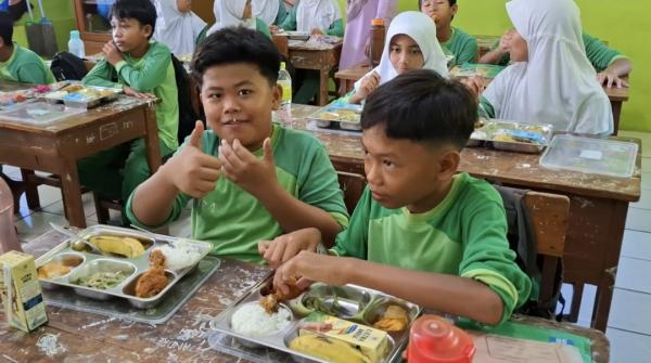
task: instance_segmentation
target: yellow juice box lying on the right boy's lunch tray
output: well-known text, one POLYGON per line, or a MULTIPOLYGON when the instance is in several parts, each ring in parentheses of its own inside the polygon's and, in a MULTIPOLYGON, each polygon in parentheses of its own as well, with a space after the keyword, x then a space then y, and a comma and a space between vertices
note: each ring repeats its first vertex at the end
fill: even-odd
POLYGON ((302 322, 299 336, 309 335, 343 341, 360 351, 370 362, 381 362, 388 350, 386 332, 321 312, 312 312, 302 322))

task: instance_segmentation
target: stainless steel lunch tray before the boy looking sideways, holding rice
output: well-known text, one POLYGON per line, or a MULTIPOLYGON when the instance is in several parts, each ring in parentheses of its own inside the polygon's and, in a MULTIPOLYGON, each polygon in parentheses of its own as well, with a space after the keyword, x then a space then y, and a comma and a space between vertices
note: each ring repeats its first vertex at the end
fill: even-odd
POLYGON ((243 304, 257 303, 263 297, 261 291, 268 288, 270 282, 271 280, 267 280, 253 287, 241 299, 235 301, 210 322, 210 328, 215 332, 208 337, 208 342, 214 349, 224 349, 231 354, 241 355, 253 361, 265 361, 256 359, 256 350, 259 351, 260 349, 265 350, 271 348, 291 355, 292 359, 297 362, 327 363, 324 360, 290 349, 289 342, 297 336, 299 324, 303 319, 309 312, 315 311, 304 304, 306 299, 309 297, 318 297, 328 304, 330 301, 329 298, 336 296, 340 309, 339 313, 333 315, 367 326, 372 326, 372 322, 369 322, 368 319, 374 319, 378 317, 378 315, 381 315, 381 309, 386 308, 387 304, 398 304, 407 310, 410 317, 409 325, 401 332, 387 332, 390 351, 381 362, 395 362, 401 359, 400 352, 408 341, 411 323, 413 323, 422 312, 421 308, 414 303, 373 289, 357 285, 328 286, 326 284, 317 283, 297 298, 280 304, 282 308, 290 309, 293 317, 289 326, 284 329, 261 337, 250 337, 233 332, 231 328, 231 317, 233 313, 243 304), (359 298, 359 300, 353 301, 349 298, 359 298), (229 337, 234 339, 228 341, 229 337))

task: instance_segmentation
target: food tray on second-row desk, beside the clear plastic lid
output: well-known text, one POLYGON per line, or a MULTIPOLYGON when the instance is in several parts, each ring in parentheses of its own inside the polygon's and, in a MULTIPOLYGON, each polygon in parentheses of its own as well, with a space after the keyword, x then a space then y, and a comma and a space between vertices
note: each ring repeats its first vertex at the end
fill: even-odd
POLYGON ((468 146, 488 144, 498 150, 539 154, 549 145, 552 135, 551 125, 480 119, 468 146))

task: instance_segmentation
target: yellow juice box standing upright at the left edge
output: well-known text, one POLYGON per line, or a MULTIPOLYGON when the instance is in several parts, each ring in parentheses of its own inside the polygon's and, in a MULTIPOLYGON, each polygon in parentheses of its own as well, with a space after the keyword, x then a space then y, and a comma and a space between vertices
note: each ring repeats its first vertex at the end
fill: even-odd
POLYGON ((48 322, 31 255, 10 251, 0 256, 0 296, 12 326, 29 333, 48 322))

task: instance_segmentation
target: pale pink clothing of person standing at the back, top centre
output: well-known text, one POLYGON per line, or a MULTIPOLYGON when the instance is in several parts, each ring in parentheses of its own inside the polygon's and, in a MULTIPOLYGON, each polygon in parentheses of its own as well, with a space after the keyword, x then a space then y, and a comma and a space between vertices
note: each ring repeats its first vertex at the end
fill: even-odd
MULTIPOLYGON (((356 1, 348 0, 348 7, 350 2, 356 1)), ((352 68, 367 62, 363 49, 369 40, 371 21, 374 18, 384 18, 384 24, 388 28, 388 23, 395 15, 397 2, 397 0, 367 0, 355 18, 346 20, 340 69, 352 68)))

